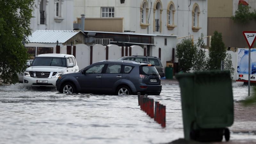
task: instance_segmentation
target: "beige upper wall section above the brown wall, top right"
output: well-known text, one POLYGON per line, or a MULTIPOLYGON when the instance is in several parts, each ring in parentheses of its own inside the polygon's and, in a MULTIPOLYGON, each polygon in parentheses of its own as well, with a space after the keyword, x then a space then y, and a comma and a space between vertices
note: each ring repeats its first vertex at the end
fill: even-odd
POLYGON ((231 17, 233 0, 208 0, 208 18, 231 17))

